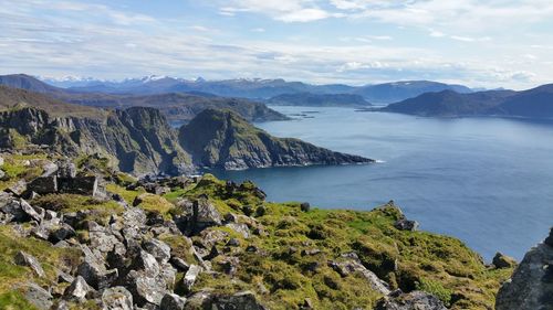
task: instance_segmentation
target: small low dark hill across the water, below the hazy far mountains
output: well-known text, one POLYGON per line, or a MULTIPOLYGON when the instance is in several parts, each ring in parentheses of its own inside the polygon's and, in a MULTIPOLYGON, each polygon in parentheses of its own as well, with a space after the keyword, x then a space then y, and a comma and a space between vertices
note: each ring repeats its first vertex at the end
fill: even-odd
POLYGON ((269 105, 310 107, 367 107, 371 103, 351 94, 283 94, 267 100, 269 105))

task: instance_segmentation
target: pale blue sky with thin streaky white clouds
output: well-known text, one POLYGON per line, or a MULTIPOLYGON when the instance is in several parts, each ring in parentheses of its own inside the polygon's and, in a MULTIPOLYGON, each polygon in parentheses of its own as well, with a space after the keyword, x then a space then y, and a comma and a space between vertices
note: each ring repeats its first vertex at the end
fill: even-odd
POLYGON ((0 0, 0 74, 553 83, 551 0, 0 0))

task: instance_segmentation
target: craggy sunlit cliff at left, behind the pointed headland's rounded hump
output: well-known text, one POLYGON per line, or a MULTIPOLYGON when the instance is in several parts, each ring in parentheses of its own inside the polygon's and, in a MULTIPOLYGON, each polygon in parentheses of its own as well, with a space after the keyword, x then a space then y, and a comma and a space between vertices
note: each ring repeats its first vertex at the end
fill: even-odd
POLYGON ((102 153, 125 172, 179 173, 191 170, 191 160, 176 142, 176 132, 158 110, 131 108, 105 118, 51 117, 35 108, 0 114, 4 131, 0 147, 13 148, 24 139, 48 145, 69 156, 102 153))

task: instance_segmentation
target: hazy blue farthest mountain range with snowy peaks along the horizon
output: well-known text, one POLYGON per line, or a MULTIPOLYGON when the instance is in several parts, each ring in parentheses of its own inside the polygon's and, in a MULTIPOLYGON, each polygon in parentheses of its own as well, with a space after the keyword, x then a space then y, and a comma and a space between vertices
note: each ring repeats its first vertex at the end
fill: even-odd
POLYGON ((455 90, 471 93, 469 87, 450 85, 430 81, 405 81, 366 86, 348 86, 344 84, 312 85, 284 79, 238 78, 225 81, 195 81, 168 76, 146 76, 128 78, 121 82, 91 81, 86 83, 75 79, 52 81, 53 85, 64 86, 74 92, 100 92, 108 94, 161 94, 200 92, 222 97, 241 97, 250 99, 269 99, 284 94, 311 93, 316 95, 352 94, 363 96, 371 103, 389 104, 411 98, 428 92, 455 90))

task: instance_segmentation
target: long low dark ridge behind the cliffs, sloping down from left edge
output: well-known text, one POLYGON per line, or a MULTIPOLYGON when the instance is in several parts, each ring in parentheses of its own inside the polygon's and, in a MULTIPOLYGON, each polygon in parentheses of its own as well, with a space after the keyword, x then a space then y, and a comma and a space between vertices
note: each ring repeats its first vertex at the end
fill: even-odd
MULTIPOLYGON (((144 83, 161 83, 147 79, 144 83)), ((129 82, 131 83, 131 82, 129 82)), ((137 83, 137 82, 132 82, 137 83)), ((161 94, 108 94, 80 92, 77 88, 61 88, 43 83, 32 76, 13 74, 0 76, 0 85, 41 93, 64 103, 103 108, 128 108, 135 106, 159 109, 171 122, 184 124, 207 108, 229 108, 250 121, 285 120, 284 115, 268 108, 264 104, 243 98, 223 98, 199 92, 161 94)))

